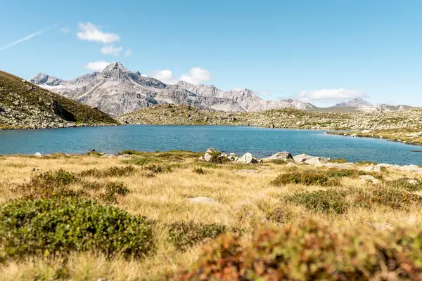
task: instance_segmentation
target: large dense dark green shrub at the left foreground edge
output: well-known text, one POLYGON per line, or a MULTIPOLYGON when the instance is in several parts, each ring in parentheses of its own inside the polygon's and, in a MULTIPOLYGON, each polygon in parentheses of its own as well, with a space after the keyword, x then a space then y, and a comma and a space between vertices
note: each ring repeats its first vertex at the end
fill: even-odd
POLYGON ((87 200, 25 200, 0 207, 0 259, 101 251, 140 257, 153 248, 150 223, 87 200))

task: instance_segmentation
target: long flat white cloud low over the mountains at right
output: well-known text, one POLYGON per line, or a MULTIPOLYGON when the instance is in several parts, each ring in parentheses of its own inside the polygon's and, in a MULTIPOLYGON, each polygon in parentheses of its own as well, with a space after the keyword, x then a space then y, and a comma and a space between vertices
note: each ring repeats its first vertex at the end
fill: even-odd
POLYGON ((366 93, 345 89, 323 89, 319 91, 302 91, 299 96, 302 100, 347 100, 351 98, 364 98, 366 93))

